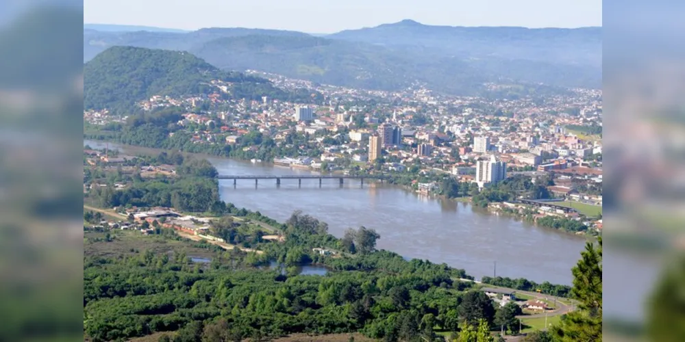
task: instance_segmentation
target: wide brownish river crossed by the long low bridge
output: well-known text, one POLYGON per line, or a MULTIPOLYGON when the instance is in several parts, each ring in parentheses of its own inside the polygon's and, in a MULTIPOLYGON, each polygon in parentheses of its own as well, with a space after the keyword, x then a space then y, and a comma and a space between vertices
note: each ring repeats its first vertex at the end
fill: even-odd
MULTIPOLYGON (((86 142, 102 148, 101 142, 86 142)), ((109 144, 126 153, 153 151, 109 144)), ((266 163, 250 163, 207 157, 219 174, 315 174, 266 163)), ((236 207, 260 211, 283 222, 293 211, 301 210, 329 224, 329 232, 340 237, 349 227, 375 229, 381 238, 377 248, 392 250, 404 257, 427 259, 466 269, 476 278, 509 276, 536 282, 571 285, 571 267, 580 258, 586 239, 549 228, 540 228, 506 216, 475 209, 468 203, 414 194, 387 184, 364 184, 337 179, 305 179, 301 187, 295 179, 254 181, 232 180, 219 183, 221 198, 236 207)))

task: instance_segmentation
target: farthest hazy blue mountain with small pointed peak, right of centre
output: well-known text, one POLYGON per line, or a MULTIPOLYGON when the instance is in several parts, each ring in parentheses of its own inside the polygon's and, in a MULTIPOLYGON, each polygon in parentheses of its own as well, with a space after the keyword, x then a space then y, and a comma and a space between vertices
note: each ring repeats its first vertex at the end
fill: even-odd
POLYGON ((421 47, 460 57, 495 57, 601 68, 601 27, 452 27, 405 20, 340 31, 326 38, 386 47, 421 47))

